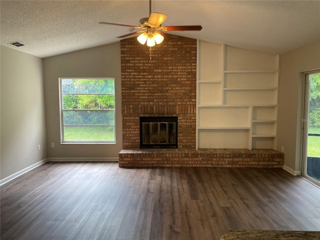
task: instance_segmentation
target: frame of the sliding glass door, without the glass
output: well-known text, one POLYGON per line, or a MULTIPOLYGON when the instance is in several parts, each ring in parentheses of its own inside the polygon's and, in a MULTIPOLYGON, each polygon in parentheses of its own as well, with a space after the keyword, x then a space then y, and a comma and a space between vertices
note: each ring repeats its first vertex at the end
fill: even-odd
POLYGON ((312 71, 306 71, 304 72, 304 102, 303 102, 303 118, 301 121, 302 124, 302 133, 303 133, 303 139, 302 139, 302 160, 301 160, 301 175, 308 179, 309 181, 313 182, 316 185, 320 185, 320 181, 315 180, 314 178, 308 176, 306 174, 306 164, 307 164, 307 146, 308 146, 308 114, 309 114, 309 75, 320 73, 320 69, 315 69, 312 71))

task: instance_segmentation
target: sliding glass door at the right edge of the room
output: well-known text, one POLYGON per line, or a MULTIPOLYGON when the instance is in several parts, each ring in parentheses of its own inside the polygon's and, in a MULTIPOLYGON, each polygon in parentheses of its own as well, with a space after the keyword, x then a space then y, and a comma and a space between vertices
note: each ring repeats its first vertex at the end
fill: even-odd
POLYGON ((320 69, 305 74, 302 175, 320 185, 320 69))

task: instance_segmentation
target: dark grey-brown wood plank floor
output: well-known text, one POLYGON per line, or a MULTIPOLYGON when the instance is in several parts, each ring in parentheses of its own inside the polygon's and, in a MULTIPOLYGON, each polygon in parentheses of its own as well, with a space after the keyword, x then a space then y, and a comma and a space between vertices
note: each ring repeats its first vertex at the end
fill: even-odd
POLYGON ((1 186, 1 240, 219 239, 320 231, 320 188, 281 168, 45 163, 1 186))

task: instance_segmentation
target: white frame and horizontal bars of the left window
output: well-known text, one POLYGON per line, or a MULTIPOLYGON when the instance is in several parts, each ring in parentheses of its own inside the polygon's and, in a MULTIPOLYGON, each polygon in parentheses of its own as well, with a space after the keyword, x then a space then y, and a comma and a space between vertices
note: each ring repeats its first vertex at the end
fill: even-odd
MULTIPOLYGON (((92 125, 92 126, 113 126, 114 127, 114 140, 64 140, 64 119, 63 111, 64 110, 73 110, 73 109, 63 109, 63 93, 62 93, 62 79, 114 79, 114 77, 59 77, 59 114, 60 114, 60 143, 61 144, 115 144, 116 143, 116 134, 115 134, 115 82, 114 82, 114 93, 88 93, 88 94, 105 94, 105 95, 114 95, 114 109, 83 109, 90 111, 113 111, 114 114, 114 124, 113 125, 92 125)), ((114 79, 115 80, 115 79, 114 79)), ((68 93, 69 94, 69 93, 68 93)), ((79 93, 71 93, 79 94, 79 93)), ((79 111, 82 109, 74 109, 74 111, 79 111)), ((76 126, 76 125, 73 125, 76 126)), ((78 125, 78 126, 91 126, 91 125, 78 125)))

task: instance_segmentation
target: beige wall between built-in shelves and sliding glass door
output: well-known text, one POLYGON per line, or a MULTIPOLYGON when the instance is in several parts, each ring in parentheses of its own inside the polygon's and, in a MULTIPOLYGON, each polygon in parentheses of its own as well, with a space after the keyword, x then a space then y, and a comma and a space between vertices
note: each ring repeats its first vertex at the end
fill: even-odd
POLYGON ((302 72, 316 68, 320 41, 280 55, 277 149, 284 147, 284 165, 295 172, 301 165, 302 72))

